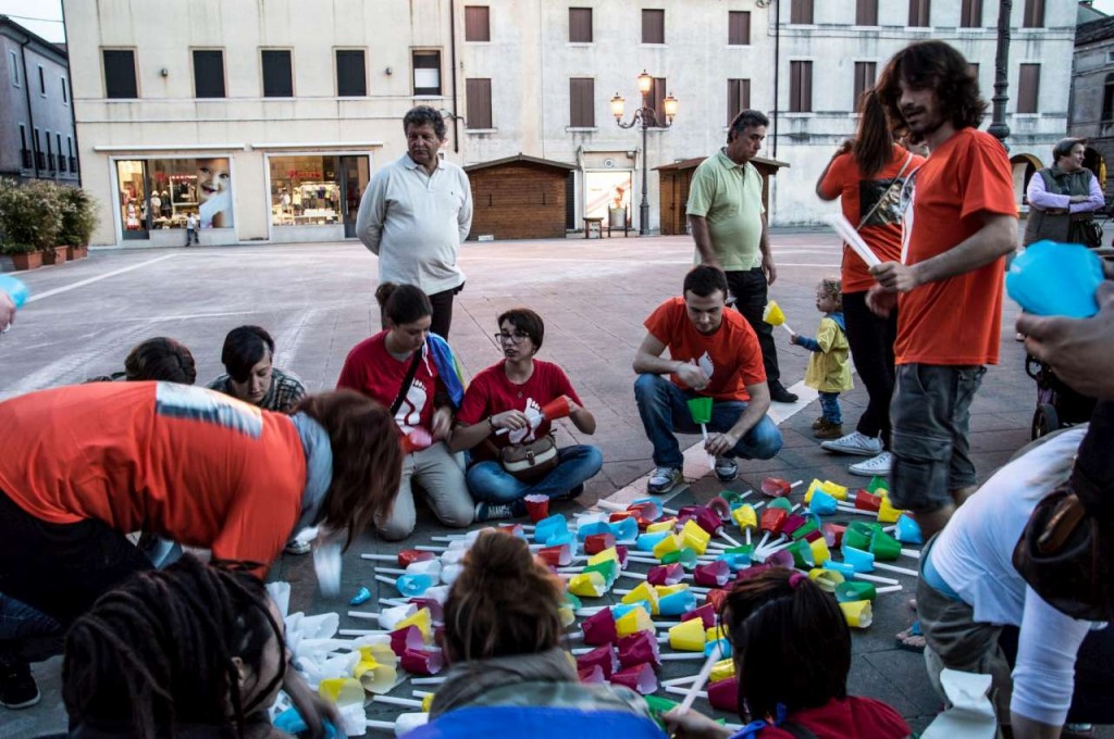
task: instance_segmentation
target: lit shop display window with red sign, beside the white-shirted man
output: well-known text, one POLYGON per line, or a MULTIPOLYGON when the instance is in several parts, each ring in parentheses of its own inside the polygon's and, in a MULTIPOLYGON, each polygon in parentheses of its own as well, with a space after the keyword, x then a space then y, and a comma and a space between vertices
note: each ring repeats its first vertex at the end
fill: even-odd
POLYGON ((270 168, 273 226, 326 226, 341 221, 336 157, 271 157, 270 168))

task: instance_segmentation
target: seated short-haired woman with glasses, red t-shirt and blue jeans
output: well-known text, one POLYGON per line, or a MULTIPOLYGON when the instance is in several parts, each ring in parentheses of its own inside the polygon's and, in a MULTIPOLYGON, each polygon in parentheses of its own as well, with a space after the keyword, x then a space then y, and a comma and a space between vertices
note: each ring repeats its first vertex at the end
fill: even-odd
POLYGON ((557 466, 540 480, 527 483, 507 472, 499 461, 504 447, 528 444, 550 432, 550 420, 541 408, 563 395, 573 425, 584 434, 596 432, 596 418, 580 404, 565 372, 556 364, 534 358, 541 348, 545 329, 541 316, 529 308, 514 308, 499 316, 495 337, 505 359, 472 380, 457 414, 458 425, 449 444, 453 450, 471 450, 467 477, 468 490, 480 501, 477 521, 524 515, 522 499, 531 494, 576 497, 604 464, 595 446, 564 446, 557 451, 557 466))

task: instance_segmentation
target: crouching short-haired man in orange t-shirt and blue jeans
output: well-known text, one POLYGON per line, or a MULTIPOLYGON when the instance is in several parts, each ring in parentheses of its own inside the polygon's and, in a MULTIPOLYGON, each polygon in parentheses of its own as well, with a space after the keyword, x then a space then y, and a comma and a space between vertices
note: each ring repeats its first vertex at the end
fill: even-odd
POLYGON ((726 298, 723 270, 693 267, 685 275, 684 297, 657 306, 644 324, 646 337, 634 356, 634 395, 654 445, 649 493, 667 493, 683 481, 684 456, 674 432, 700 433, 687 405, 693 398, 712 398, 707 430, 713 433, 704 449, 715 456, 722 482, 739 474, 736 457, 769 460, 781 450, 781 431, 766 415, 762 349, 746 319, 724 309, 726 298), (668 359, 662 357, 666 347, 668 359))

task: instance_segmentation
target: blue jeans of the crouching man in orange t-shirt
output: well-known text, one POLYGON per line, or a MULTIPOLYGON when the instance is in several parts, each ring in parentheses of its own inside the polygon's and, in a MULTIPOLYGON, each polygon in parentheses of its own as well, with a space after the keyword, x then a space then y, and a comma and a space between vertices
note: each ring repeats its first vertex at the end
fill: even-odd
MULTIPOLYGON (((695 393, 681 390, 661 375, 638 375, 634 383, 634 397, 638 415, 654 445, 654 464, 680 470, 684 463, 681 445, 674 433, 698 434, 700 425, 693 422, 687 401, 695 393)), ((746 410, 743 401, 715 401, 707 430, 722 434, 731 431, 746 410)), ((769 460, 781 451, 781 431, 770 416, 764 415, 753 428, 735 444, 726 456, 744 460, 769 460)))

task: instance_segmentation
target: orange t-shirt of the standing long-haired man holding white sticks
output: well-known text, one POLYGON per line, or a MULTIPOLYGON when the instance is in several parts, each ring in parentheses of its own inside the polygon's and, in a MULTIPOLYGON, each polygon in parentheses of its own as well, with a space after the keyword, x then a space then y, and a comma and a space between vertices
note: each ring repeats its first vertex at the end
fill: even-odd
MULTIPOLYGON (((960 129, 917 171, 906 264, 930 259, 983 228, 984 214, 1017 217, 1006 150, 960 129)), ((898 298, 898 364, 997 364, 1005 258, 927 283, 898 298)))

